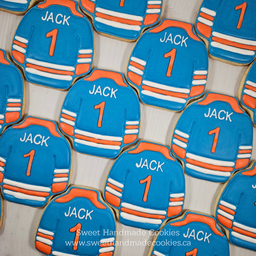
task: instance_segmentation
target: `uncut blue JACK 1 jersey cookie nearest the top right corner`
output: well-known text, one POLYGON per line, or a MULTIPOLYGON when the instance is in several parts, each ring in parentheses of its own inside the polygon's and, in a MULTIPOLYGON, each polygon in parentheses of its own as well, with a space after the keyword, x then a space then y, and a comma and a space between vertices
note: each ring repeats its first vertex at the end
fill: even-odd
POLYGON ((164 20, 137 41, 126 78, 144 104, 179 111, 204 93, 207 72, 207 49, 193 25, 164 20))

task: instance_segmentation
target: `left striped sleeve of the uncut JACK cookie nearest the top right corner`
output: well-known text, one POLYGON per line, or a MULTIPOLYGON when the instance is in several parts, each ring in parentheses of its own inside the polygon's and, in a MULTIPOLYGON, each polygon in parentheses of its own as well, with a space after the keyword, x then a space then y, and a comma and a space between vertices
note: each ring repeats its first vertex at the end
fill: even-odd
POLYGON ((149 49, 146 49, 148 34, 144 34, 136 43, 127 67, 128 81, 140 86, 144 77, 149 49))

